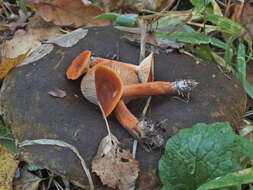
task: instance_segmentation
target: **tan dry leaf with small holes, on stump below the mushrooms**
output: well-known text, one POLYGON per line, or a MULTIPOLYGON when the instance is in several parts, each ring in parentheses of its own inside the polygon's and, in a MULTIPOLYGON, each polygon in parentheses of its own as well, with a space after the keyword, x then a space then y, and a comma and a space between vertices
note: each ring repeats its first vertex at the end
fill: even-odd
POLYGON ((134 187, 139 164, 128 150, 119 146, 115 136, 108 135, 100 142, 97 155, 92 160, 92 171, 100 177, 104 185, 129 189, 134 187))

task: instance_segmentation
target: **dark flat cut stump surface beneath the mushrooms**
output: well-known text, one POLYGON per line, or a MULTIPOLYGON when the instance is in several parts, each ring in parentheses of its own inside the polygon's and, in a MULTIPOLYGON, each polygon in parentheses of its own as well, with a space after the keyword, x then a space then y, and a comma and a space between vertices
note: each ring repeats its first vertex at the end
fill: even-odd
MULTIPOLYGON (((99 142, 107 134, 105 123, 99 108, 82 96, 80 80, 68 80, 65 72, 72 60, 85 49, 96 56, 110 59, 117 55, 120 61, 137 64, 139 49, 121 39, 121 36, 122 33, 112 27, 90 28, 88 35, 73 48, 55 47, 43 59, 11 71, 1 89, 0 106, 16 140, 63 140, 75 146, 90 166, 99 142), (60 99, 48 95, 48 91, 54 89, 66 91, 67 96, 60 99)), ((196 64, 192 58, 182 54, 155 55, 155 80, 177 79, 199 82, 192 93, 191 102, 187 104, 168 95, 155 96, 151 101, 151 112, 147 114, 152 121, 168 119, 167 138, 198 122, 230 121, 233 126, 238 126, 245 110, 246 95, 234 77, 229 80, 215 64, 196 64)), ((145 99, 133 100, 128 107, 138 117, 145 102, 145 99)), ((131 138, 112 114, 108 120, 112 133, 120 141, 126 142, 131 138)), ((136 158, 141 169, 138 189, 159 186, 157 165, 161 153, 161 150, 148 153, 138 147, 136 158)), ((68 149, 27 146, 23 159, 88 187, 80 161, 68 149)), ((97 189, 105 189, 98 177, 93 175, 93 178, 97 189)))

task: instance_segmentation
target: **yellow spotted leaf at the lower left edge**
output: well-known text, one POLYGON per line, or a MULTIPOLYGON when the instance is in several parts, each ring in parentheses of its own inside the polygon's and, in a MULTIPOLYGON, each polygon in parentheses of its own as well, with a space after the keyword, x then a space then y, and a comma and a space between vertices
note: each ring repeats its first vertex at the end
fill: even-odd
POLYGON ((0 190, 11 190, 18 161, 10 150, 0 145, 0 190))

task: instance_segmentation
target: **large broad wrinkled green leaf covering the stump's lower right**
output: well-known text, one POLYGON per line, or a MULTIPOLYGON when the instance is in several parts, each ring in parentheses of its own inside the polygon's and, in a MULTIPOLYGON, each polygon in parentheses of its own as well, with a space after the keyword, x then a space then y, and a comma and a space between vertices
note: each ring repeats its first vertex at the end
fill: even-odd
POLYGON ((195 190, 219 176, 242 169, 240 141, 228 122, 199 123, 171 137, 159 161, 164 189, 195 190))

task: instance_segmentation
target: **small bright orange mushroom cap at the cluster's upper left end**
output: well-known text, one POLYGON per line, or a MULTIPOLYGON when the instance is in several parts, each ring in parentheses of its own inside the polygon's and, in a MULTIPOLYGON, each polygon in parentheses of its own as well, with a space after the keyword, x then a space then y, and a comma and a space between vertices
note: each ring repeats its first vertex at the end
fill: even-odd
POLYGON ((91 51, 85 50, 80 53, 68 67, 66 75, 68 79, 78 79, 83 73, 87 71, 91 51))

